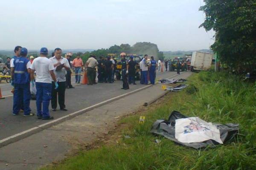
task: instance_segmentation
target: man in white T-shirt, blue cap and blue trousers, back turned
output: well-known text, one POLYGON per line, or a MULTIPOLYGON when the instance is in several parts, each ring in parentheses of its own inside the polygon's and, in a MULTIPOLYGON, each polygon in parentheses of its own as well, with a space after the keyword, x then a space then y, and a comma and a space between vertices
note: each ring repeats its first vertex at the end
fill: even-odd
POLYGON ((50 59, 47 58, 48 49, 43 47, 40 50, 40 57, 34 59, 31 65, 31 82, 34 83, 34 73, 36 71, 36 108, 38 119, 50 120, 53 119, 49 113, 49 104, 52 97, 52 79, 56 89, 58 83, 54 74, 54 66, 50 59), (43 104, 43 111, 42 111, 43 104))

